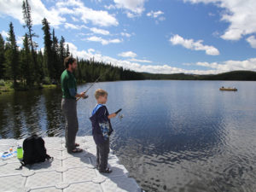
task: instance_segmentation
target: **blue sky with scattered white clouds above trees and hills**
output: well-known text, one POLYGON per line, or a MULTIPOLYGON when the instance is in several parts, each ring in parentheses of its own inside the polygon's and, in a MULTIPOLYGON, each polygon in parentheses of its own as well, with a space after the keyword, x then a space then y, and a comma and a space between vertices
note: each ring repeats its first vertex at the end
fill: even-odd
MULTIPOLYGON (((256 71, 255 0, 28 0, 33 40, 42 20, 79 59, 136 72, 216 74, 256 71)), ((22 48, 22 0, 0 0, 0 33, 13 22, 22 48)))

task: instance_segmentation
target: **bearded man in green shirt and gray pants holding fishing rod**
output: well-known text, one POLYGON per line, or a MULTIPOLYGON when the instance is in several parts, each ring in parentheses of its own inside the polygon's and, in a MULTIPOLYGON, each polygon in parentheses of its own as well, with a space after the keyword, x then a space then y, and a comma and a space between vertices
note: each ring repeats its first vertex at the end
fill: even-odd
POLYGON ((79 144, 75 143, 77 132, 79 131, 79 121, 77 116, 77 97, 87 98, 84 92, 77 93, 77 82, 73 72, 77 68, 77 61, 72 56, 64 60, 66 70, 61 74, 61 110, 65 116, 65 138, 68 153, 80 153, 83 149, 78 148, 79 144))

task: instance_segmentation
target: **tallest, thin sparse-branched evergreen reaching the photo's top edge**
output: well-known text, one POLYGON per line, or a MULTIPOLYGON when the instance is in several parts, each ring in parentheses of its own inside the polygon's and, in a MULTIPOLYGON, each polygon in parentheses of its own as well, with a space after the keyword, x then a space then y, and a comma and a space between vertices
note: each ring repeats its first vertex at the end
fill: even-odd
POLYGON ((38 37, 38 36, 32 30, 31 7, 30 7, 29 3, 27 2, 27 0, 23 1, 23 3, 22 3, 22 12, 23 12, 23 19, 25 20, 25 23, 26 23, 26 26, 24 26, 24 27, 26 27, 28 30, 28 39, 29 39, 28 42, 31 47, 33 68, 34 68, 34 72, 35 72, 35 74, 33 74, 33 77, 35 79, 32 79, 32 84, 33 84, 34 80, 36 80, 37 83, 40 84, 40 79, 39 79, 38 74, 40 74, 41 71, 38 67, 35 45, 32 41, 32 38, 38 37))

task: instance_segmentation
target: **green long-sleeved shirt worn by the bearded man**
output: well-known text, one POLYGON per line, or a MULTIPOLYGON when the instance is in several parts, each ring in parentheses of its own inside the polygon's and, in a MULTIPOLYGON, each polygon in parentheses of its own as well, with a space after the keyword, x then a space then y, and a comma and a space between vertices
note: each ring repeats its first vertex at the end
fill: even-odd
POLYGON ((73 73, 67 71, 67 69, 61 74, 61 90, 62 98, 76 99, 76 97, 70 95, 70 89, 77 91, 77 80, 73 73))

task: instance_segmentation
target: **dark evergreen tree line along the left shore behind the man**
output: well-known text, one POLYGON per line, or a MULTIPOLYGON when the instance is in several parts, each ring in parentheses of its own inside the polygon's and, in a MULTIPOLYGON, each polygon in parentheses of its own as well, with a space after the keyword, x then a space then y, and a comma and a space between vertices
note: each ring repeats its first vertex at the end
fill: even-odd
MULTIPOLYGON (((34 89, 42 84, 59 84, 64 68, 65 57, 72 55, 65 38, 59 40, 55 30, 51 30, 46 18, 42 20, 44 32, 44 51, 38 49, 34 38, 38 35, 32 30, 31 7, 27 0, 22 3, 26 33, 23 46, 17 45, 13 23, 9 23, 8 36, 4 40, 0 34, 0 79, 13 81, 15 90, 34 89)), ((77 58, 78 69, 75 76, 79 82, 92 82, 98 77, 101 81, 143 79, 141 73, 113 67, 111 63, 77 58)))

